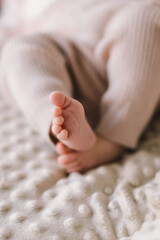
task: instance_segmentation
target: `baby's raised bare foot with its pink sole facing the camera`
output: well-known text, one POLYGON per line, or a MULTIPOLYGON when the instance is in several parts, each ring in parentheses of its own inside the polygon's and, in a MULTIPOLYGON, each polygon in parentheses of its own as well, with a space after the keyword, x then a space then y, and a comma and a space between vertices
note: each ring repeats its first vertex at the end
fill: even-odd
POLYGON ((89 126, 82 104, 62 92, 49 96, 53 107, 52 132, 66 146, 78 151, 91 148, 96 140, 89 126))

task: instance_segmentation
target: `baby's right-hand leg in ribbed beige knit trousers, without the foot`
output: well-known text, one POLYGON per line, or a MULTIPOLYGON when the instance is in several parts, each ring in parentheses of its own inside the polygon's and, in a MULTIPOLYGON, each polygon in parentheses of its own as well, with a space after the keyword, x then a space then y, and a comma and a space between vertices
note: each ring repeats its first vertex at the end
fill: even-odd
POLYGON ((110 20, 97 54, 107 64, 109 88, 97 132, 135 148, 160 99, 160 8, 135 1, 110 20))

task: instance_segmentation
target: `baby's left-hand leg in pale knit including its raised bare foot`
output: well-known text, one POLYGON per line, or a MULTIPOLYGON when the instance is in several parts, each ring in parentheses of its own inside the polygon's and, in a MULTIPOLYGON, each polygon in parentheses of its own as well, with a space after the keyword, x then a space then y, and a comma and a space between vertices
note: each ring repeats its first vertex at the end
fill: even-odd
POLYGON ((72 86, 66 59, 53 38, 37 35, 11 40, 2 53, 1 72, 6 99, 45 139, 49 135, 55 142, 56 136, 76 150, 86 150, 94 144, 95 134, 82 104, 69 97, 72 86), (53 127, 49 95, 54 106, 53 127))

